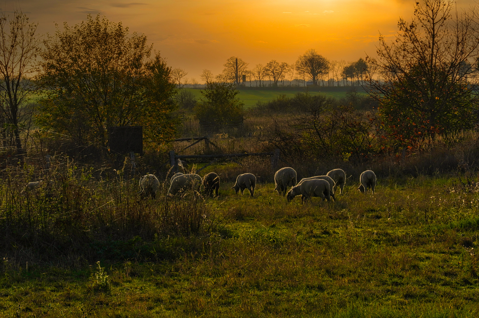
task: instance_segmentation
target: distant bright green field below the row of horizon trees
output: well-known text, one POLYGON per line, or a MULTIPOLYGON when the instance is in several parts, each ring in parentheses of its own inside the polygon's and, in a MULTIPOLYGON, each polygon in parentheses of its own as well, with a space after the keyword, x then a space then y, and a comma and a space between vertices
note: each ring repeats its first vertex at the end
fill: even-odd
MULTIPOLYGON (((192 92, 196 99, 202 97, 199 89, 195 88, 185 88, 186 90, 192 92)), ((293 97, 298 93, 298 91, 291 90, 240 90, 237 95, 241 99, 246 108, 254 106, 258 100, 268 101, 275 99, 281 94, 285 94, 287 97, 293 97)), ((346 92, 309 92, 311 95, 326 95, 335 98, 342 98, 346 96, 346 92)))

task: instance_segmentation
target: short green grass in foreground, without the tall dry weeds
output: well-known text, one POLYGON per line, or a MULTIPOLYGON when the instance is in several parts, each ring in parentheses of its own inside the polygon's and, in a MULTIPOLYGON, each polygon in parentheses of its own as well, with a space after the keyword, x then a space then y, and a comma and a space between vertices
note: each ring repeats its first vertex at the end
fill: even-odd
MULTIPOLYGON (((102 255, 133 252, 103 269, 4 260, 1 317, 478 317, 476 190, 383 179, 375 195, 347 184, 335 202, 302 205, 271 183, 254 197, 231 184, 206 199, 223 224, 210 235, 137 238, 124 251, 107 239, 102 255)), ((142 205, 143 218, 162 202, 142 205)))

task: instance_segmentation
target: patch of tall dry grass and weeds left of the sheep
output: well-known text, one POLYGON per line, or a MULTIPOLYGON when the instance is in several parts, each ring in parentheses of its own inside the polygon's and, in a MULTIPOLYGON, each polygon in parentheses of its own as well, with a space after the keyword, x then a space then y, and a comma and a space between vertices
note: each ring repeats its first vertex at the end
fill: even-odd
POLYGON ((29 171, 24 172, 7 171, 0 181, 0 253, 14 259, 95 259, 105 249, 128 257, 138 238, 197 236, 217 226, 215 211, 201 196, 168 197, 165 183, 160 199, 140 200, 135 179, 97 180, 92 168, 79 169, 71 161, 52 169, 33 191, 25 191, 29 171))

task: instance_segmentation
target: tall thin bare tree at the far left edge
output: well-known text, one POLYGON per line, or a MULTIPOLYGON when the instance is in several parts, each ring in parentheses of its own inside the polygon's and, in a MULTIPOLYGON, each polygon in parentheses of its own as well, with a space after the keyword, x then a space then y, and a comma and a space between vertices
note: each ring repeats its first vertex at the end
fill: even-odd
POLYGON ((35 91, 31 76, 41 44, 36 34, 37 25, 20 10, 15 10, 13 17, 5 12, 0 15, 0 103, 5 120, 2 130, 13 132, 21 161, 25 151, 20 139, 20 124, 29 98, 35 91))

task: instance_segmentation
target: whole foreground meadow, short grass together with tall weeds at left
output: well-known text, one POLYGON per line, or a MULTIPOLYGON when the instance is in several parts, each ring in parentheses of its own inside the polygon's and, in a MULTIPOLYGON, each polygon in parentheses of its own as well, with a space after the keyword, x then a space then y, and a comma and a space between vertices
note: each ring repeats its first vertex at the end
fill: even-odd
POLYGON ((2 181, 1 316, 479 316, 478 187, 390 177, 372 195, 350 178, 302 205, 263 168, 254 197, 236 195, 238 169, 203 170, 222 178, 204 200, 167 197, 165 179, 140 201, 136 180, 70 168, 26 197, 2 181))

